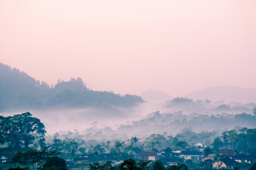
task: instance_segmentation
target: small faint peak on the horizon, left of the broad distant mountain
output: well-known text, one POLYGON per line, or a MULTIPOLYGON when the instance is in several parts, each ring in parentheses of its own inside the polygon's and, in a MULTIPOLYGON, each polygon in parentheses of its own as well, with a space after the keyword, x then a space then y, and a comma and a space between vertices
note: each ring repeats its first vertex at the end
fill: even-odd
POLYGON ((169 94, 156 90, 145 91, 141 94, 141 97, 145 101, 165 101, 174 99, 174 97, 169 94))

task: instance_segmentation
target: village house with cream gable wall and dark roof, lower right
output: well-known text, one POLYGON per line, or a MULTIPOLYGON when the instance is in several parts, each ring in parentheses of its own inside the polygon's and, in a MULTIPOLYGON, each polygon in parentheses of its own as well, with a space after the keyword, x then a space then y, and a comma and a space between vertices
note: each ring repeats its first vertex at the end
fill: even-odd
POLYGON ((239 165, 238 162, 230 159, 229 157, 217 159, 212 163, 213 169, 234 169, 235 166, 239 165))

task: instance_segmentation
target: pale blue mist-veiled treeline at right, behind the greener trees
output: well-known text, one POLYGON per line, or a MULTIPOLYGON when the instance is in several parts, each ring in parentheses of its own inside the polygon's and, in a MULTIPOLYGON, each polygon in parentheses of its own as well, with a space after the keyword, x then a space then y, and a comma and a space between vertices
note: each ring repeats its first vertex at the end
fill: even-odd
MULTIPOLYGON (((145 118, 139 121, 134 121, 131 124, 119 126, 117 133, 126 133, 128 136, 136 134, 151 135, 154 133, 177 134, 177 132, 184 128, 191 128, 196 133, 200 131, 217 131, 221 132, 223 129, 234 129, 237 127, 256 127, 256 112, 254 114, 183 114, 182 112, 177 113, 160 113, 154 112, 148 114, 145 118)), ((100 131, 96 131, 99 133, 100 131)), ((93 134, 92 134, 93 135, 93 134)), ((196 139, 196 138, 195 138, 196 139)), ((191 138, 193 140, 193 138, 191 138)), ((201 139, 195 141, 204 143, 201 139)))

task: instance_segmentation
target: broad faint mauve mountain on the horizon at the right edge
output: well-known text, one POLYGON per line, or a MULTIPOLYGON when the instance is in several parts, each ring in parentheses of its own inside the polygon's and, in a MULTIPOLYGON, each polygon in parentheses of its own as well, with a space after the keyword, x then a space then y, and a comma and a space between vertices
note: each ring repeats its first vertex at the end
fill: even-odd
POLYGON ((236 86, 207 87, 200 91, 181 96, 193 100, 212 100, 225 102, 256 103, 256 89, 236 86))

